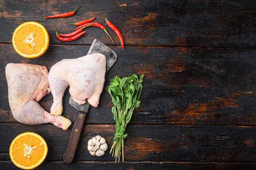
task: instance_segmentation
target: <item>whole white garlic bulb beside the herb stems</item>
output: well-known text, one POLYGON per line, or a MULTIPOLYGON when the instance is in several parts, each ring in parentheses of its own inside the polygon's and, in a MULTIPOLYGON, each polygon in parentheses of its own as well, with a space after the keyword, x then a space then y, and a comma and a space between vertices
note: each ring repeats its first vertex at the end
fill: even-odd
POLYGON ((105 151, 108 149, 108 144, 104 137, 97 135, 88 141, 87 149, 92 156, 96 155, 100 157, 105 154, 105 151))

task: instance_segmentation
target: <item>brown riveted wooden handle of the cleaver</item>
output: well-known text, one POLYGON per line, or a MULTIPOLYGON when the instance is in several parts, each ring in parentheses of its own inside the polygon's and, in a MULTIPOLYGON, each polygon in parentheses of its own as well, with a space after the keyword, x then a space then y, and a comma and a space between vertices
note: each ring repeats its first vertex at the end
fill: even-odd
POLYGON ((67 149, 62 155, 62 160, 64 163, 71 163, 75 157, 76 149, 81 137, 81 132, 83 130, 83 125, 85 123, 87 113, 79 112, 77 114, 74 126, 72 128, 70 139, 67 144, 67 149))

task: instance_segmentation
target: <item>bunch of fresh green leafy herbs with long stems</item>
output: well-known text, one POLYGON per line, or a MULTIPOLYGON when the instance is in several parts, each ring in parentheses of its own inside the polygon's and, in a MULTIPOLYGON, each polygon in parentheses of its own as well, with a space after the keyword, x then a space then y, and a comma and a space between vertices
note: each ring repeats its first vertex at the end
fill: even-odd
POLYGON ((115 161, 117 159, 120 161, 121 154, 124 161, 124 138, 128 136, 124 132, 133 110, 140 105, 143 77, 144 75, 141 75, 138 78, 135 74, 124 78, 115 76, 114 79, 110 79, 110 85, 106 86, 106 91, 112 99, 112 113, 116 122, 115 137, 110 150, 110 153, 113 151, 112 156, 116 158, 115 161))

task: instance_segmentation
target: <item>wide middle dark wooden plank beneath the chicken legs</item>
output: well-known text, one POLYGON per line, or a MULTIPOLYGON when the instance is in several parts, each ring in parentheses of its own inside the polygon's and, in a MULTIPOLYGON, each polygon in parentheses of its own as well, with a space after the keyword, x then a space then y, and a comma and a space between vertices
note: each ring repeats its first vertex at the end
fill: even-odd
MULTIPOLYGON (((10 62, 47 65, 87 53, 90 46, 50 45, 36 59, 18 56, 11 44, 0 44, 0 122, 16 122, 9 108, 5 66, 10 62), (76 55, 74 55, 76 53, 76 55)), ((118 60, 106 76, 145 74, 141 106, 131 124, 256 125, 256 51, 254 49, 111 47, 118 60)), ((63 115, 74 122, 77 111, 65 92, 63 115)), ((52 95, 39 103, 49 112, 52 95)), ((103 90, 98 108, 86 123, 113 124, 112 102, 103 90)))

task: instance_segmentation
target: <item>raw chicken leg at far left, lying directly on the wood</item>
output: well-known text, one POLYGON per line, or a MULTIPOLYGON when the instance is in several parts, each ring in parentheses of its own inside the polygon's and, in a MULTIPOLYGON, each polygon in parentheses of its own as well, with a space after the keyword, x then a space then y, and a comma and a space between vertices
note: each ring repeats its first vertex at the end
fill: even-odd
POLYGON ((22 124, 52 123, 67 130, 71 121, 45 111, 37 102, 50 93, 46 66, 9 63, 5 68, 9 105, 13 117, 22 124))

